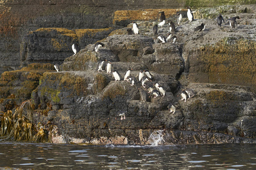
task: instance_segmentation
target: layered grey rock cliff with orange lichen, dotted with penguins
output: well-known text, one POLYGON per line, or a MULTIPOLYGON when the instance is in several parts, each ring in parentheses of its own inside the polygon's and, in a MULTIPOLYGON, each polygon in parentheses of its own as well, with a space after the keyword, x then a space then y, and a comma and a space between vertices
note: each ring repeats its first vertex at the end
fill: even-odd
MULTIPOLYGON (((97 24, 91 28, 98 29, 57 28, 49 22, 52 28, 39 29, 40 24, 35 24, 36 29, 16 37, 22 39, 19 66, 23 69, 2 74, 1 110, 6 112, 31 98, 36 109, 34 124, 55 125, 51 129, 55 143, 148 144, 152 135, 161 137, 162 144, 255 143, 255 5, 200 9, 191 23, 187 22, 184 8, 164 9, 168 20, 174 20, 177 12, 183 14, 183 20, 176 25, 176 44, 162 44, 152 33, 152 27, 159 23, 158 12, 167 1, 160 2, 158 9, 150 10, 129 3, 133 9, 129 11, 122 3, 116 6, 117 11, 110 7, 113 4, 90 2, 95 10, 109 9, 111 22, 109 18, 102 19, 106 17, 101 16, 103 13, 93 11, 104 20, 102 23, 108 22, 108 28, 97 24), (240 15, 236 28, 228 24, 217 26, 215 18, 220 10, 225 20, 240 15), (126 29, 133 20, 139 25, 139 35, 127 35, 126 29), (201 23, 206 24, 205 30, 194 33, 193 28, 201 23), (106 46, 99 53, 93 50, 96 41, 106 46), (81 48, 75 55, 71 52, 73 42, 79 42, 81 48), (133 68, 133 76, 147 67, 152 81, 162 84, 166 95, 142 101, 140 83, 130 86, 123 79, 115 81, 112 74, 96 70, 102 58, 111 60, 122 78, 128 67, 133 68), (61 71, 54 71, 51 63, 62 63, 61 71), (196 92, 186 102, 177 97, 185 87, 196 92), (170 103, 176 105, 175 113, 168 111, 170 103), (125 120, 115 119, 118 111, 127 112, 125 120)), ((61 10, 73 7, 58 1, 40 3, 48 9, 50 5, 61 10)), ((14 6, 15 2, 3 4, 14 6)), ((25 4, 33 6, 27 1, 25 4)), ((80 5, 85 7, 84 1, 80 5)), ((150 7, 150 2, 142 6, 150 7)), ((88 12, 71 11, 91 16, 88 12)), ((62 24, 73 22, 65 15, 61 16, 66 21, 62 24)), ((79 23, 84 24, 81 20, 79 23)), ((164 25, 158 32, 166 35, 168 30, 164 25)), ((18 62, 17 58, 14 60, 18 62)))

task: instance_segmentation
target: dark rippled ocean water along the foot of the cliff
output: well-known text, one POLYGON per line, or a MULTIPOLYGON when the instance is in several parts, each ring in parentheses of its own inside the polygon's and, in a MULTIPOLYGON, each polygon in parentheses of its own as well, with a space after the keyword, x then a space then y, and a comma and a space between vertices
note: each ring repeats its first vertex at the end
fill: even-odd
POLYGON ((0 143, 0 169, 256 169, 256 144, 0 143))

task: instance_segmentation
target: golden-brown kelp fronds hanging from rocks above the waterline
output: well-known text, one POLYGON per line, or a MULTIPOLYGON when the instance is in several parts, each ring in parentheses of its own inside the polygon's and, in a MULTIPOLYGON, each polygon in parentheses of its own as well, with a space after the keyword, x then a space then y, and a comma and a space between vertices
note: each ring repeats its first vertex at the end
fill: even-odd
POLYGON ((51 122, 46 125, 35 124, 32 121, 34 104, 31 100, 23 101, 18 108, 12 111, 0 112, 1 129, 0 141, 14 139, 15 141, 52 142, 53 126, 51 122))

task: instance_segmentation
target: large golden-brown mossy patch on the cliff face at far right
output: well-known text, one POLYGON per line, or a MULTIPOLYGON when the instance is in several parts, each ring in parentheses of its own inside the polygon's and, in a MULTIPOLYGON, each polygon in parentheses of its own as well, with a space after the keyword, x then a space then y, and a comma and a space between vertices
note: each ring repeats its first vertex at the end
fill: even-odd
POLYGON ((209 83, 256 84, 256 42, 225 38, 200 49, 200 62, 208 67, 209 83))

